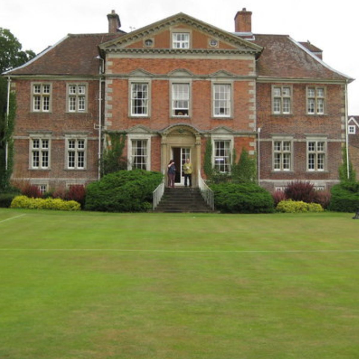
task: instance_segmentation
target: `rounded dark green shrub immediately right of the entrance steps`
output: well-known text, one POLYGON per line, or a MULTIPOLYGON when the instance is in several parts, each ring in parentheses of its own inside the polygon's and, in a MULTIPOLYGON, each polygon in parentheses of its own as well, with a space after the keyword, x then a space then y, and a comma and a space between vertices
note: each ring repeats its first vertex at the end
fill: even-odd
POLYGON ((271 194, 254 183, 212 184, 216 209, 226 213, 271 213, 271 194))

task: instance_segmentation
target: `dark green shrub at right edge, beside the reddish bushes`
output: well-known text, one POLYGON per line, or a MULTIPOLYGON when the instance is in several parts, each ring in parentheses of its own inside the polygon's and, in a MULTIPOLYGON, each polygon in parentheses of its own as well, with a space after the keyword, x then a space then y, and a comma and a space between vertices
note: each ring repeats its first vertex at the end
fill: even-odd
POLYGON ((337 212, 356 212, 359 208, 359 182, 340 183, 331 188, 328 209, 337 212))

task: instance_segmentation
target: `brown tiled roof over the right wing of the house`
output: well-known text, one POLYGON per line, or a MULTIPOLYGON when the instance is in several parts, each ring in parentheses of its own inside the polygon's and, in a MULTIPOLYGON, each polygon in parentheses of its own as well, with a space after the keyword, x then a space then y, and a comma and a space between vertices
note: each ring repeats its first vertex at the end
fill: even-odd
POLYGON ((264 47, 257 61, 260 77, 315 80, 353 80, 325 64, 288 35, 255 34, 256 44, 264 47))

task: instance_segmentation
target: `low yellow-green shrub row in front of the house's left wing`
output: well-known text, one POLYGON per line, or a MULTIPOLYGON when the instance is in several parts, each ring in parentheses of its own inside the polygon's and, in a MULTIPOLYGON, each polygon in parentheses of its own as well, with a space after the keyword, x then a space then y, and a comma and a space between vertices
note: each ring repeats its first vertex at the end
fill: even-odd
POLYGON ((81 206, 76 201, 64 201, 60 198, 29 198, 17 196, 11 202, 10 208, 25 209, 55 209, 62 211, 79 211, 81 206))

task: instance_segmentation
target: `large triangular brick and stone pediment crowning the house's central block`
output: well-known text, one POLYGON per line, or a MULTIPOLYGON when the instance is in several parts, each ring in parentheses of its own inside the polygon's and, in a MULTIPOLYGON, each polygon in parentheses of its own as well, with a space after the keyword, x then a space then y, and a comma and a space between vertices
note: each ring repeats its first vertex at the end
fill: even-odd
POLYGON ((100 46, 106 52, 230 52, 259 55, 262 47, 189 15, 179 13, 132 31, 100 46), (190 48, 172 48, 171 33, 191 33, 190 48), (196 38, 196 41, 193 39, 196 38))

